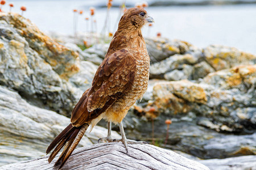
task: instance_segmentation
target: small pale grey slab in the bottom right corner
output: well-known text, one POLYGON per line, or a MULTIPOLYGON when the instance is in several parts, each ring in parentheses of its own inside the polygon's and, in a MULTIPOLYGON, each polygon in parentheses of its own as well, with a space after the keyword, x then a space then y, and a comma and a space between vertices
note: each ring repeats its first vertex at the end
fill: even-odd
POLYGON ((207 165, 210 169, 236 170, 236 169, 256 169, 256 156, 238 156, 225 159, 200 160, 200 163, 207 165))

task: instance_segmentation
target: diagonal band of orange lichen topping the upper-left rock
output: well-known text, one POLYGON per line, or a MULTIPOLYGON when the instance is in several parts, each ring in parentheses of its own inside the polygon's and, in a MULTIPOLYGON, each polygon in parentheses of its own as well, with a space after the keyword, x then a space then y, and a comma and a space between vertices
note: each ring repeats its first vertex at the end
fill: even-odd
POLYGON ((44 35, 35 24, 19 14, 13 13, 12 15, 7 15, 6 13, 1 13, 0 20, 6 20, 8 23, 13 24, 18 33, 27 40, 31 48, 35 44, 38 44, 40 48, 35 48, 34 50, 40 56, 46 58, 46 62, 52 66, 57 74, 71 76, 76 73, 74 70, 77 69, 74 69, 75 66, 71 67, 71 65, 75 65, 76 58, 79 54, 44 35))

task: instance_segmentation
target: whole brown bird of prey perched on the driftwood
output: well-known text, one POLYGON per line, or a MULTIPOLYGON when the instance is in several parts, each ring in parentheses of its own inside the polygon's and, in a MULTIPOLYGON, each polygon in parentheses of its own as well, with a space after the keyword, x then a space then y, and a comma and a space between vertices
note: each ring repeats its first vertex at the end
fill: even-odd
POLYGON ((126 139, 122 120, 147 90, 150 57, 141 28, 148 22, 154 22, 154 19, 141 8, 130 8, 123 14, 105 59, 94 75, 92 87, 82 94, 73 109, 71 124, 47 148, 47 154, 55 148, 49 156, 49 163, 66 144, 55 163, 60 164, 59 168, 63 167, 89 125, 93 128, 102 118, 108 121, 108 136, 99 141, 121 141, 126 151, 127 143, 143 143, 126 139), (112 122, 119 124, 122 139, 112 139, 112 122))

